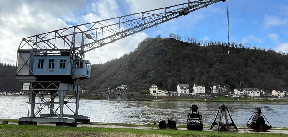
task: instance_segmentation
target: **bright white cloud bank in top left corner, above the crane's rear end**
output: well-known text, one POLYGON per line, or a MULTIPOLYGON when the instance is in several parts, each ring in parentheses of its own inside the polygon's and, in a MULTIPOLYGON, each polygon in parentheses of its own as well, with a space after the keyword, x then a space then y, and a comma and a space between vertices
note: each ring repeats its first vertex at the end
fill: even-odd
MULTIPOLYGON (((62 19, 51 15, 50 10, 44 11, 40 5, 45 2, 39 4, 38 8, 35 3, 4 3, 0 6, 0 62, 16 63, 17 49, 22 38, 69 26, 62 19)), ((57 7, 52 7, 51 11, 54 8, 56 10, 57 7)))

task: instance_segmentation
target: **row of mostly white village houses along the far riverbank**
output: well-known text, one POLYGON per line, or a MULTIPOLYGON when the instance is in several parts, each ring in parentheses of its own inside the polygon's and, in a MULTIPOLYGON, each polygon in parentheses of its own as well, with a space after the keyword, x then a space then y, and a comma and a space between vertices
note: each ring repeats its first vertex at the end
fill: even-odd
MULTIPOLYGON (((81 89, 82 94, 87 94, 85 88, 81 89)), ((287 99, 286 90, 265 90, 259 88, 235 88, 233 91, 230 91, 224 85, 210 85, 206 89, 205 85, 194 84, 193 88, 190 88, 188 84, 178 84, 176 90, 167 91, 160 90, 156 84, 152 84, 149 87, 149 90, 143 90, 139 92, 130 92, 127 85, 121 85, 114 89, 109 89, 103 92, 89 92, 91 95, 103 96, 104 99, 113 99, 117 98, 115 95, 126 95, 128 97, 122 97, 117 99, 131 99, 131 95, 144 95, 144 96, 190 96, 191 99, 213 99, 214 97, 231 97, 238 99, 239 97, 250 97, 255 99, 287 99), (132 94, 131 94, 132 93, 132 94)), ((9 92, 4 91, 0 92, 0 95, 27 95, 28 91, 18 91, 18 92, 9 92)))

